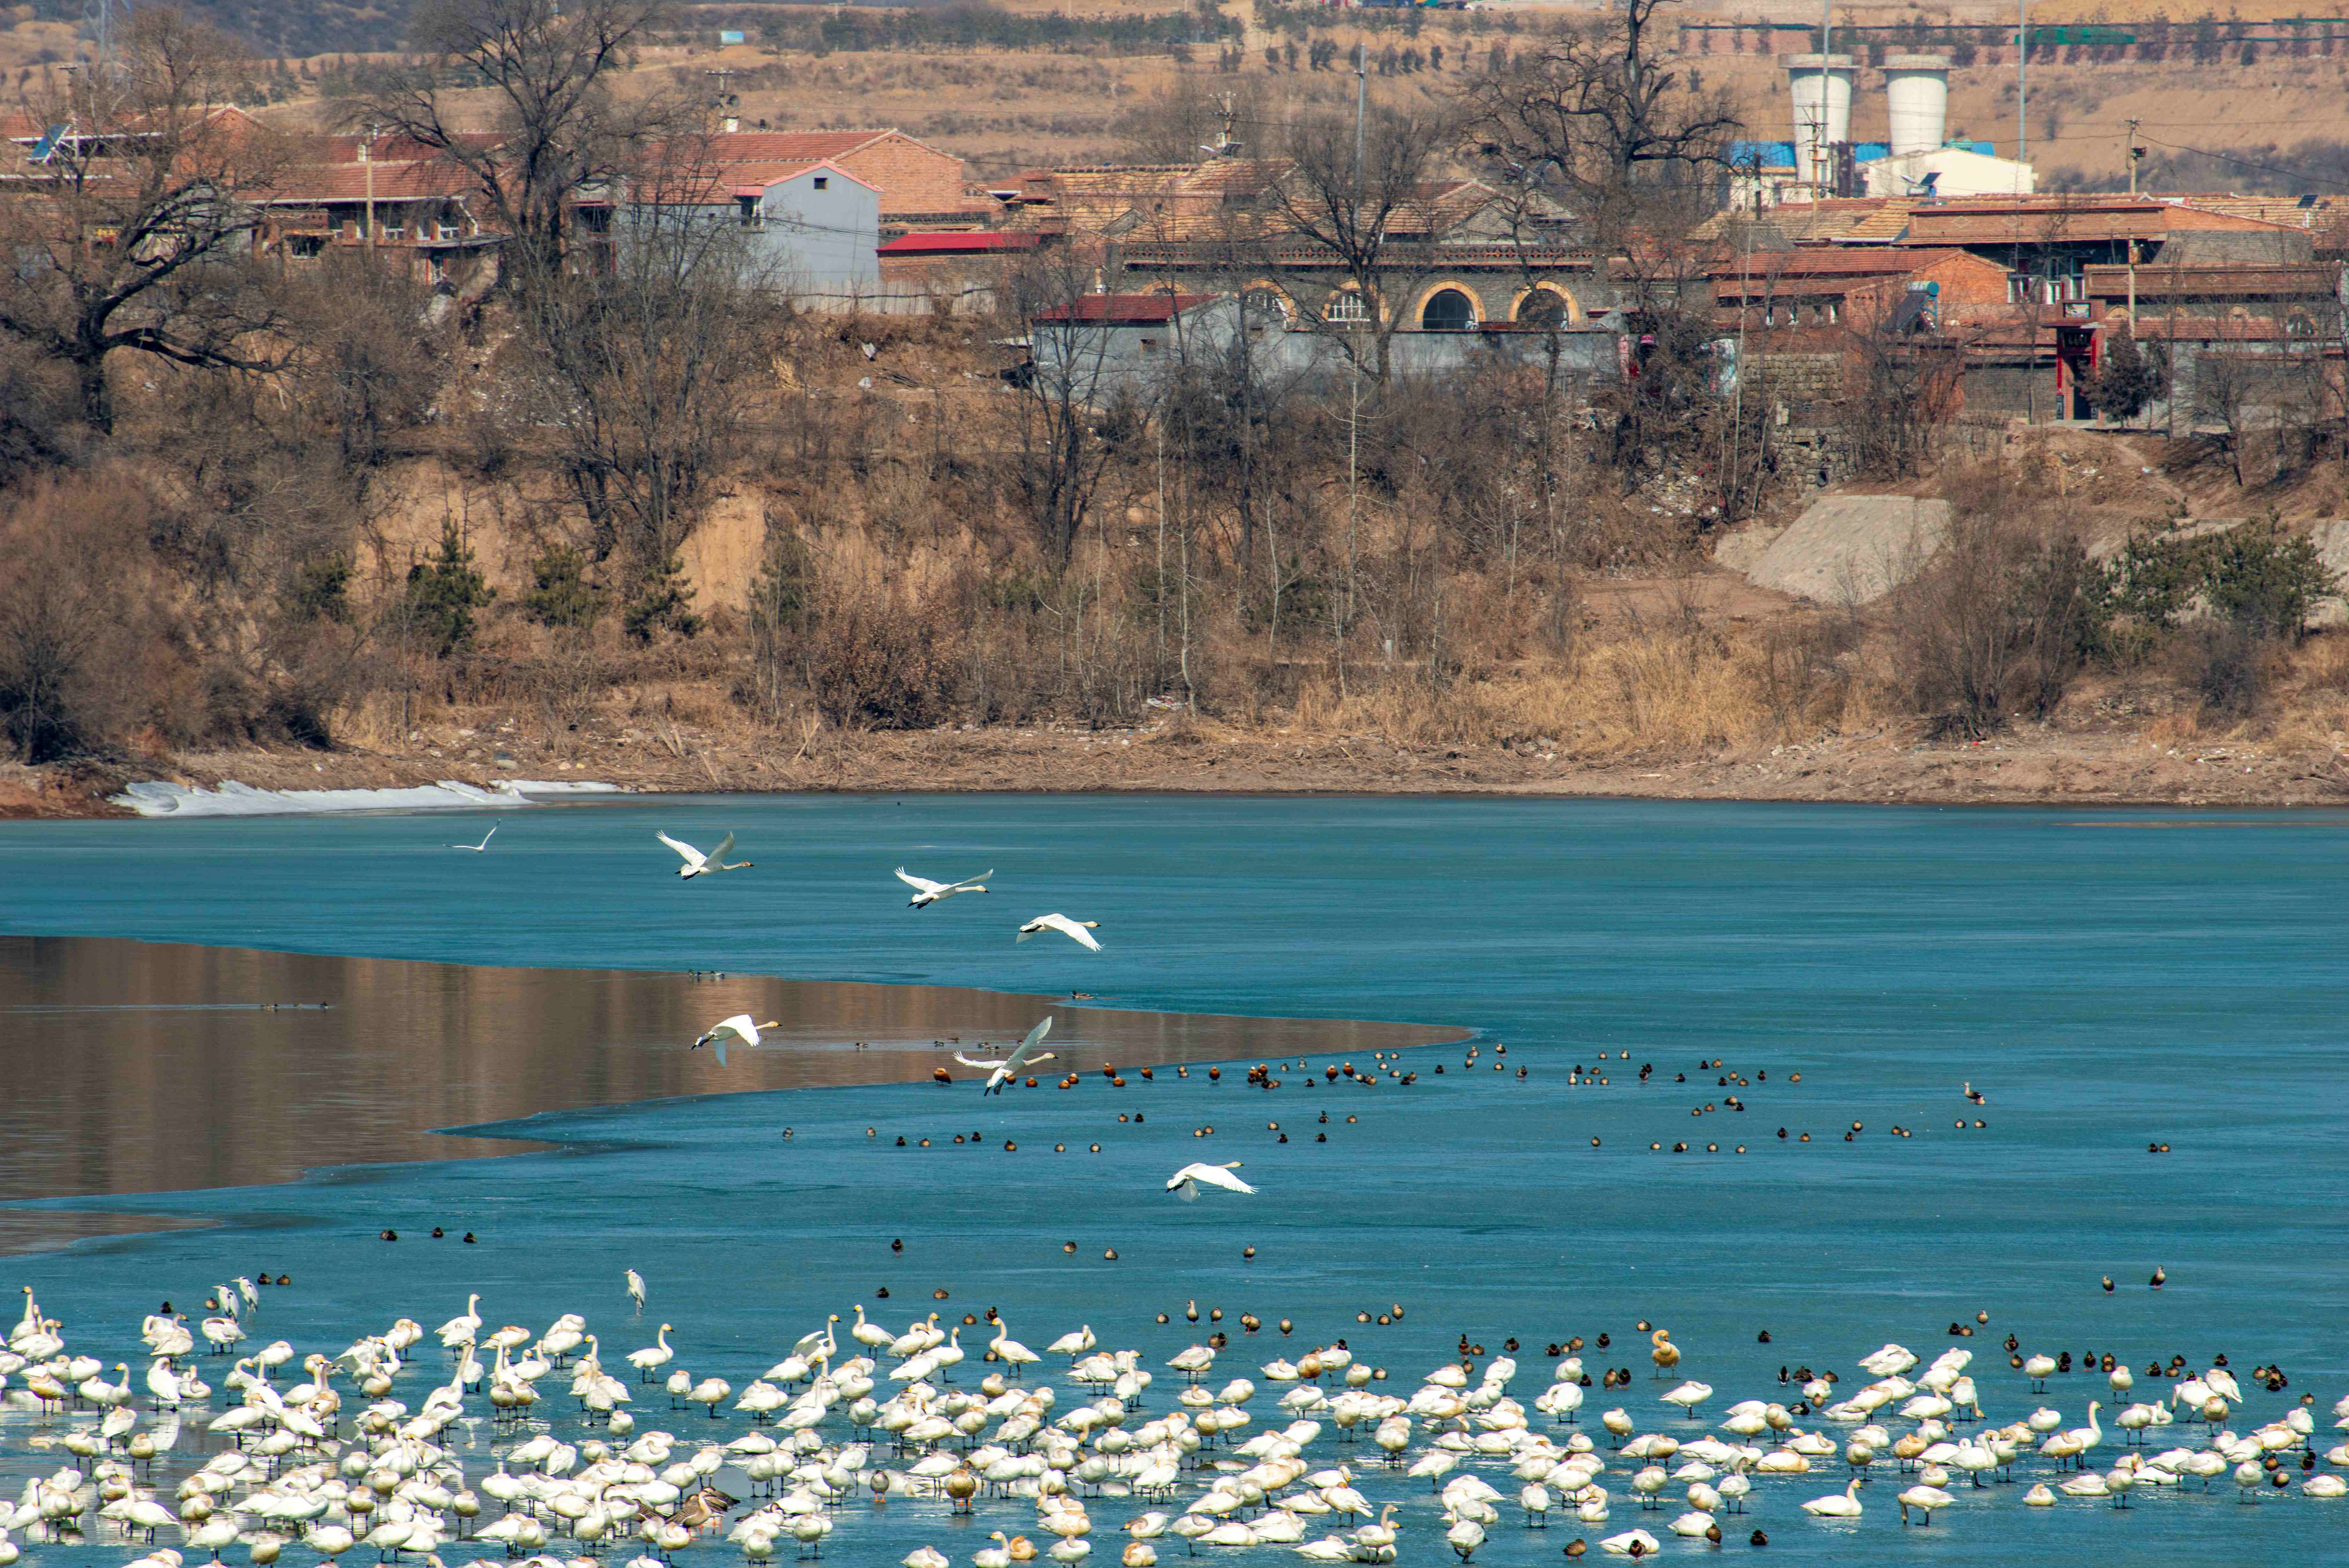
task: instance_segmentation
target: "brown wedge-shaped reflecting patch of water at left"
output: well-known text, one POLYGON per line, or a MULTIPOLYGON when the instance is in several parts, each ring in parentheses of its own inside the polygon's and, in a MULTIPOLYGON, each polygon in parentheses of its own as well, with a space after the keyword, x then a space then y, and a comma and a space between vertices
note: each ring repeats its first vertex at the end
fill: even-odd
MULTIPOLYGON (((1057 1018, 1048 1072, 1393 1051, 1459 1030, 1123 1013, 944 985, 477 969, 0 936, 0 1199, 282 1182, 312 1166, 510 1154, 442 1126, 665 1095, 928 1079, 1057 1018), (780 1020, 719 1067, 719 1018, 780 1020)), ((1043 1077, 1045 1088, 1052 1084, 1043 1077)), ((940 1091, 944 1093, 944 1091, 940 1091)), ((0 1215, 0 1251, 136 1229, 0 1215)))

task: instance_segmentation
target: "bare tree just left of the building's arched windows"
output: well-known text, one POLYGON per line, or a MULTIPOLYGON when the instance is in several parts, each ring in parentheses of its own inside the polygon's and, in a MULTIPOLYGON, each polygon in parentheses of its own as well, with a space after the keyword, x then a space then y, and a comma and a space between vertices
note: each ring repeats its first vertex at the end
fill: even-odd
POLYGON ((1360 132, 1353 115, 1301 115, 1287 132, 1290 172, 1264 193, 1266 244, 1325 296, 1318 310, 1301 301, 1299 320, 1381 383, 1405 310, 1433 275, 1449 209, 1428 176, 1449 143, 1440 115, 1374 108, 1360 132))

